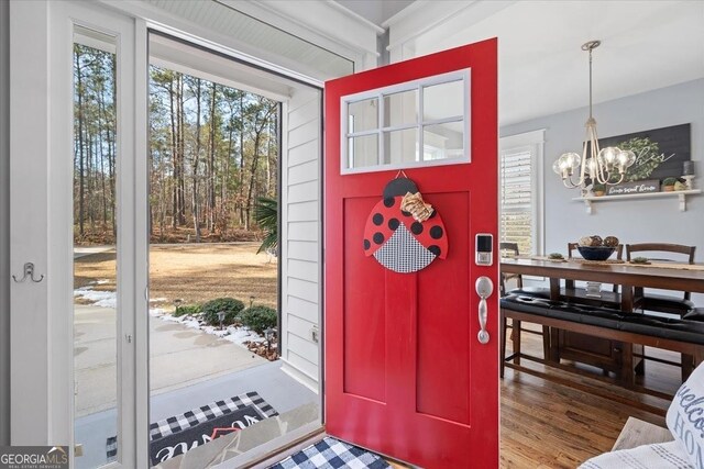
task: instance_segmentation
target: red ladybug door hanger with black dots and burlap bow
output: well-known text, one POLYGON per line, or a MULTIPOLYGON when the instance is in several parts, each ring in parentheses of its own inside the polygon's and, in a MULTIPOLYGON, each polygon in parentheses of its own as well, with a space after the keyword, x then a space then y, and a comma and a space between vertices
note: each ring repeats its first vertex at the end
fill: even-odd
MULTIPOLYGON (((399 175, 403 171, 399 171, 399 175)), ((424 202, 414 181, 386 185, 364 226, 364 254, 399 273, 425 269, 448 255, 448 236, 438 211, 424 202)))

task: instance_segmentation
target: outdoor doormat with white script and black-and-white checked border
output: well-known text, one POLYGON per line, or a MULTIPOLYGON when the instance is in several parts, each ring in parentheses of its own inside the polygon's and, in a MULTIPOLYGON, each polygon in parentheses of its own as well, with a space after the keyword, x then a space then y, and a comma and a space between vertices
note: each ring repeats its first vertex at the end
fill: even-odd
MULTIPOLYGON (((235 395, 193 409, 150 425, 150 458, 153 466, 187 453, 264 418, 278 415, 256 392, 235 395)), ((106 444, 108 462, 117 456, 117 437, 106 444)))

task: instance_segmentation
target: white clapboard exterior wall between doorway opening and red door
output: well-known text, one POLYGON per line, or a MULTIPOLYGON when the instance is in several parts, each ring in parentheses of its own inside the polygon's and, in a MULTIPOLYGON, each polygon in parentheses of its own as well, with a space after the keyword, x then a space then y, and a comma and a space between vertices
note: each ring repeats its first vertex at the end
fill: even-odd
POLYGON ((319 391, 321 93, 297 89, 284 107, 282 369, 319 391))

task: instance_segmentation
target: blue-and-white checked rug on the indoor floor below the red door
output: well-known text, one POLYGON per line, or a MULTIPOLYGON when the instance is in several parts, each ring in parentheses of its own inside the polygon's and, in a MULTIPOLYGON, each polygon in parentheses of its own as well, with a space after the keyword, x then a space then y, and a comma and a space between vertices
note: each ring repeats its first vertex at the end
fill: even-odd
POLYGON ((388 462, 381 456, 356 446, 326 437, 300 453, 271 466, 270 469, 386 469, 388 462))

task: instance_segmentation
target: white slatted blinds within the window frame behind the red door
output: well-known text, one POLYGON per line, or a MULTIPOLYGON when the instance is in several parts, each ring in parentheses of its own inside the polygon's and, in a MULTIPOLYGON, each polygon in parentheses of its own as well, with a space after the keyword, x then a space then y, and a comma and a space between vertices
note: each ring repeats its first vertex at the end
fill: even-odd
POLYGON ((532 158, 529 146, 501 154, 501 241, 517 243, 520 254, 537 254, 532 158))

